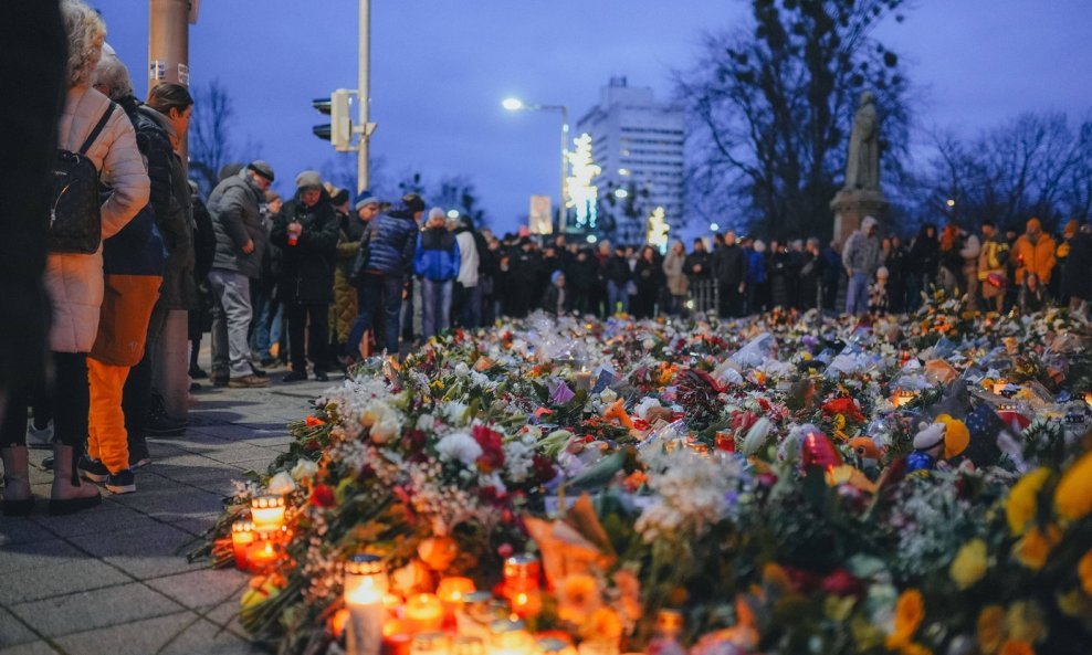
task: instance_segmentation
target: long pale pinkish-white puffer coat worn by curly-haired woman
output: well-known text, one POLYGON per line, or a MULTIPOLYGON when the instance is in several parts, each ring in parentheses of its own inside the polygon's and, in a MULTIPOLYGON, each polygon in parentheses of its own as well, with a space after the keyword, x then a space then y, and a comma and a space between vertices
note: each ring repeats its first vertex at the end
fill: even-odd
MULTIPOLYGON (((69 89, 57 124, 57 146, 80 149, 109 101, 90 86, 69 89)), ((148 203, 148 173, 137 150, 136 134, 125 112, 115 109, 105 129, 87 149, 87 158, 113 191, 102 205, 103 239, 117 234, 148 203)), ((50 349, 87 352, 98 334, 103 304, 103 251, 91 255, 50 253, 45 288, 53 305, 50 349)))

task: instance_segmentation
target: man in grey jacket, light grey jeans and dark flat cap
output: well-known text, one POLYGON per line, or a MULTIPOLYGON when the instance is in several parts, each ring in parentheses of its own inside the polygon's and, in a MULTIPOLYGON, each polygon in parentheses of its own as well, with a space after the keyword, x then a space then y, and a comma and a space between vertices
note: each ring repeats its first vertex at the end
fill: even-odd
POLYGON ((212 383, 220 387, 267 387, 250 363, 250 279, 262 274, 266 243, 262 203, 273 183, 273 169, 252 161, 224 178, 209 196, 217 252, 209 272, 216 298, 212 311, 212 383), (262 249, 262 250, 259 250, 262 249))

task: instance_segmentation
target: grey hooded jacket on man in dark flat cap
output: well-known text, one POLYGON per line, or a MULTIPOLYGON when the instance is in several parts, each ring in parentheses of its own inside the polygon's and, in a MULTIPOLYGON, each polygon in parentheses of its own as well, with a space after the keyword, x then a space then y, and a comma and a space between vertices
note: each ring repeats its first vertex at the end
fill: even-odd
POLYGON ((212 190, 207 207, 217 234, 213 268, 235 271, 251 278, 261 276, 267 241, 262 224, 261 207, 264 201, 265 194, 245 168, 212 190), (254 242, 250 254, 243 252, 248 241, 254 242))

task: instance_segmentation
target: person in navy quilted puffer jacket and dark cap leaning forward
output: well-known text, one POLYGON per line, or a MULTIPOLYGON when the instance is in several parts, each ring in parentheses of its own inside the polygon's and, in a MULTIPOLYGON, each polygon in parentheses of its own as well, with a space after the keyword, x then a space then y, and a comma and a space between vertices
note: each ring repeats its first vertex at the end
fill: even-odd
MULTIPOLYGON (((360 314, 349 332, 349 349, 359 344, 371 325, 371 316, 382 303, 386 318, 382 347, 387 353, 398 356, 399 318, 402 307, 402 288, 413 265, 417 250, 418 221, 424 213, 424 200, 417 193, 402 196, 402 203, 388 210, 368 223, 364 241, 368 244, 368 261, 356 282, 360 314)), ((351 358, 359 351, 348 352, 351 358)))

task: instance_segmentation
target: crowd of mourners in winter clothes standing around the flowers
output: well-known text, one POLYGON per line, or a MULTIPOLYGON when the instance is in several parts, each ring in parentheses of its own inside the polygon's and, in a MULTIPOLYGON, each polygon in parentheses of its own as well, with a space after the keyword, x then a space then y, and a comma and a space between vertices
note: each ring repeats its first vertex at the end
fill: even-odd
MULTIPOLYGON (((190 377, 234 388, 267 385, 265 369, 277 365, 288 367, 284 382, 327 380, 371 353, 397 356, 449 328, 534 310, 637 318, 836 311, 844 292, 847 313, 904 313, 923 292, 944 288, 983 309, 1068 303, 1088 316, 1092 233, 1075 221, 1059 237, 1037 219, 1022 233, 988 221, 974 232, 924 225, 904 245, 865 218, 843 246, 727 232, 690 250, 676 241, 661 254, 565 235, 497 235, 466 215, 429 209, 417 193, 393 202, 369 194, 350 205, 348 191, 312 170, 295 176, 285 200, 262 160, 225 167, 202 199, 180 155, 193 110, 187 88, 161 83, 138 101, 98 13, 62 0, 56 18, 67 59, 54 56, 54 71, 43 55, 28 84, 39 93, 34 106, 57 119, 55 129, 45 122, 39 130, 61 150, 64 168, 54 165, 53 178, 71 182, 67 192, 93 166, 94 188, 90 200, 62 202, 33 175, 22 182, 28 202, 18 211, 44 214, 50 203, 53 211, 48 230, 21 226, 27 253, 42 246, 36 264, 23 253, 31 274, 3 282, 29 309, 28 335, 50 325, 53 379, 32 361, 20 369, 27 374, 4 379, 6 515, 33 508, 28 439, 53 444, 50 511, 70 514, 99 503, 86 480, 135 492, 134 471, 149 461, 147 437, 186 430, 156 383, 168 366, 160 342, 171 311, 189 316, 190 377), (63 102, 51 101, 51 78, 64 87, 63 102), (49 306, 34 304, 43 283, 49 306), (199 366, 206 331, 208 372, 199 366)), ((42 154, 53 147, 25 139, 34 146, 28 170, 35 161, 46 169, 42 154)))

